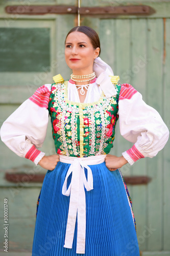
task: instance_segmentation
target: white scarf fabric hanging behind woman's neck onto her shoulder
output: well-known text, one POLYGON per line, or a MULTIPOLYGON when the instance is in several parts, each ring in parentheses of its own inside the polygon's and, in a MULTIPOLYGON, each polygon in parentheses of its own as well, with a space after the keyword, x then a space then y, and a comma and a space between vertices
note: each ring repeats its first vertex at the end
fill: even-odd
POLYGON ((111 67, 100 57, 97 57, 94 59, 93 71, 97 77, 96 83, 100 84, 105 96, 108 98, 115 95, 116 89, 114 88, 113 83, 110 80, 111 78, 109 77, 114 75, 111 67))

